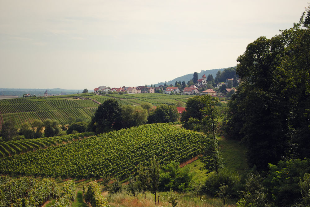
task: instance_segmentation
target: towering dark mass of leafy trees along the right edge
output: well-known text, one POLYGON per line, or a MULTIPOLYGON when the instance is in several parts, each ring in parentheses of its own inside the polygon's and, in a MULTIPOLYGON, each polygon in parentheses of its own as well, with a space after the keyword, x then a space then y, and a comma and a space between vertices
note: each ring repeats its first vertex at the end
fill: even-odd
POLYGON ((280 35, 250 43, 237 61, 242 83, 228 103, 226 136, 241 139, 250 166, 310 157, 310 9, 280 35))

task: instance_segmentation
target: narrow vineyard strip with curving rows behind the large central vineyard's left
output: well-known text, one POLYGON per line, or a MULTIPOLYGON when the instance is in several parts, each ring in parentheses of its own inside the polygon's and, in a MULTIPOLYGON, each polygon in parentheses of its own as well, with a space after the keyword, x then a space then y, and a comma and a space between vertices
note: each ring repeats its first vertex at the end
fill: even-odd
POLYGON ((10 155, 26 153, 34 151, 36 149, 62 144, 63 142, 84 139, 85 137, 93 135, 93 132, 85 132, 48 138, 44 137, 38 139, 3 141, 0 142, 0 157, 7 157, 10 155))

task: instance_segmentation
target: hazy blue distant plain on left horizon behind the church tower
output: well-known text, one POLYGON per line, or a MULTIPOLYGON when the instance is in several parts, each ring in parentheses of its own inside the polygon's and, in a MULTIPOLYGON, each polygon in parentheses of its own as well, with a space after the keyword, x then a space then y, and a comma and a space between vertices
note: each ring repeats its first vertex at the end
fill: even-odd
POLYGON ((18 96, 23 97, 25 93, 35 94, 36 96, 43 96, 45 90, 49 96, 57 96, 57 95, 67 95, 67 94, 75 94, 75 93, 82 93, 83 89, 61 89, 61 88, 47 88, 47 89, 40 89, 40 88, 0 88, 0 95, 3 96, 18 96))

